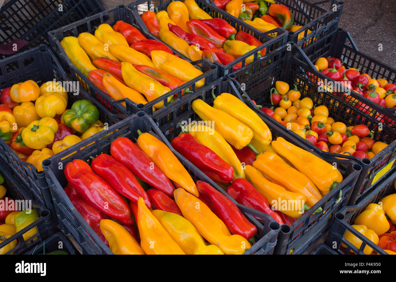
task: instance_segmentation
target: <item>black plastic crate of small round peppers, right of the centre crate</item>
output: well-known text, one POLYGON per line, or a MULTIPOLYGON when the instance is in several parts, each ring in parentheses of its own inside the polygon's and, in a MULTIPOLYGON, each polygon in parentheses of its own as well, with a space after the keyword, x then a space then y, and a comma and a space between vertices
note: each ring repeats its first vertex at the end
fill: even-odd
MULTIPOLYGON (((332 117, 335 121, 345 123, 346 126, 361 123, 367 125, 373 132, 375 141, 382 141, 388 144, 386 149, 379 152, 372 159, 343 156, 348 159, 354 159, 363 167, 348 204, 358 203, 362 196, 375 189, 375 182, 385 178, 396 169, 394 162, 396 158, 396 126, 386 122, 379 123, 377 120, 379 114, 377 112, 381 111, 381 107, 378 105, 377 107, 373 105, 372 109, 365 113, 354 106, 354 104, 346 101, 346 96, 338 97, 331 92, 318 91, 318 81, 324 81, 327 76, 318 72, 307 55, 295 44, 289 42, 286 46, 272 51, 267 59, 271 60, 270 64, 266 64, 266 61, 257 61, 249 64, 248 72, 230 74, 230 78, 236 82, 238 87, 242 87, 246 91, 251 107, 255 107, 251 100, 263 107, 272 106, 270 103, 270 89, 276 80, 285 81, 289 85, 297 83, 297 88, 301 92, 301 99, 309 97, 314 102, 314 105, 327 106, 329 117, 332 117)), ((366 103, 364 97, 356 95, 356 102, 366 103)), ((354 97, 353 92, 351 92, 351 96, 354 97)), ((266 119, 270 118, 263 112, 260 112, 260 115, 266 119)), ((283 126, 282 129, 287 130, 283 126)), ((294 132, 289 131, 289 134, 294 136, 294 138, 301 138, 294 132)), ((311 150, 321 151, 309 142, 305 142, 305 144, 311 150)), ((339 156, 336 153, 328 154, 334 157, 339 156)))

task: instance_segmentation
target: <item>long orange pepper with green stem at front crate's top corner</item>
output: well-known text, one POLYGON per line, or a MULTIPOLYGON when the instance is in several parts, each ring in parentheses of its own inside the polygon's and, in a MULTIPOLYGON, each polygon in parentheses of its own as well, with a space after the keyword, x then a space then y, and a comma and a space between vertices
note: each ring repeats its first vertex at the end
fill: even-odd
POLYGON ((158 166, 166 176, 188 192, 199 196, 198 189, 190 174, 183 167, 172 151, 150 133, 139 132, 137 145, 158 166))

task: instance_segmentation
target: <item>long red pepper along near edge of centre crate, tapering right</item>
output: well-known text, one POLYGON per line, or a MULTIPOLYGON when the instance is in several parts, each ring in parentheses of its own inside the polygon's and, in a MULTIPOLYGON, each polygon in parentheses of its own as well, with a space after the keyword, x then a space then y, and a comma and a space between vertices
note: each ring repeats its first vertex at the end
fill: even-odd
POLYGON ((280 225, 284 223, 282 218, 278 216, 268 204, 267 198, 253 187, 246 179, 236 178, 232 181, 232 185, 228 186, 226 192, 237 203, 248 206, 271 216, 280 225))

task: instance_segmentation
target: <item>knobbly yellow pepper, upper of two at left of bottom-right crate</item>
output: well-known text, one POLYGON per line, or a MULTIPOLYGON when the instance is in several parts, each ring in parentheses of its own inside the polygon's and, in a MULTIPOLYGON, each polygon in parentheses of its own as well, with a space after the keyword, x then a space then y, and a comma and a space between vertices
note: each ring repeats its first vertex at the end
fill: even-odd
POLYGON ((365 225, 377 235, 383 235, 390 228, 389 222, 386 220, 385 212, 379 204, 369 204, 367 208, 355 218, 354 224, 365 225))

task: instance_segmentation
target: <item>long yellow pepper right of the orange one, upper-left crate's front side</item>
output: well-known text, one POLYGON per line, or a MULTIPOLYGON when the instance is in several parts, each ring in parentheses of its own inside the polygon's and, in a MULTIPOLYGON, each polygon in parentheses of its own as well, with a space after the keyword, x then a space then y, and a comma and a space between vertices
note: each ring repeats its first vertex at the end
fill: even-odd
MULTIPOLYGON (((129 62, 121 63, 121 72, 125 84, 145 95, 149 102, 171 91, 169 87, 162 85, 154 78, 150 78, 150 76, 136 70, 129 62)), ((170 103, 171 100, 172 97, 169 97, 168 103, 170 103)), ((154 108, 160 109, 163 106, 164 101, 161 101, 155 104, 154 108)))

